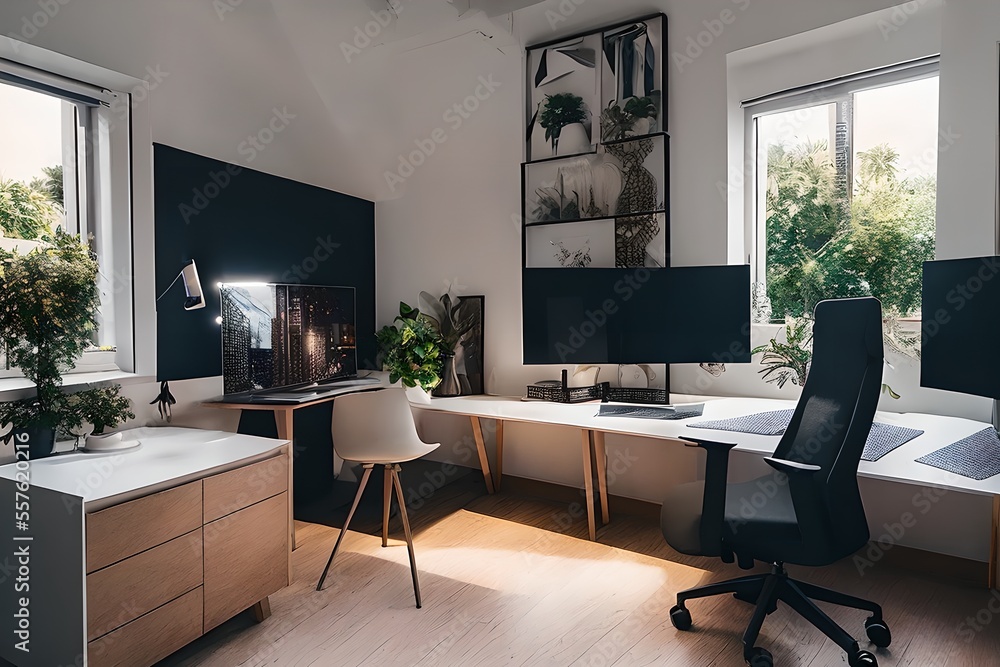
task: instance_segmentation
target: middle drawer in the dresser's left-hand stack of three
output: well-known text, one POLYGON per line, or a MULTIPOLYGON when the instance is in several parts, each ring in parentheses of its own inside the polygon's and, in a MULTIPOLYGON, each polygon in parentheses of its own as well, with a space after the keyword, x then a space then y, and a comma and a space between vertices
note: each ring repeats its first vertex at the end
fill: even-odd
POLYGON ((87 639, 97 639, 202 582, 201 529, 87 575, 87 639))

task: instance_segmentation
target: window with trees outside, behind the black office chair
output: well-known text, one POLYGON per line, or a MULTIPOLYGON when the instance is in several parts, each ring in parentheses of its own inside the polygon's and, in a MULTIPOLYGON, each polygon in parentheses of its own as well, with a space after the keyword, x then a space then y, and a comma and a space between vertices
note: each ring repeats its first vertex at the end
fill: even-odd
POLYGON ((937 69, 921 61, 744 103, 758 321, 868 295, 887 316, 919 317, 934 259, 937 69))

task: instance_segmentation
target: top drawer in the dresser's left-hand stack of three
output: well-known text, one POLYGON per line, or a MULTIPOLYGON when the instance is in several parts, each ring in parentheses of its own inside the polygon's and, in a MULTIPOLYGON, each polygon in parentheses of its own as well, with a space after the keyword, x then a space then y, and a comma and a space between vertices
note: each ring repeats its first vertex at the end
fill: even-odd
POLYGON ((201 481, 87 515, 87 572, 152 549, 202 525, 201 481))

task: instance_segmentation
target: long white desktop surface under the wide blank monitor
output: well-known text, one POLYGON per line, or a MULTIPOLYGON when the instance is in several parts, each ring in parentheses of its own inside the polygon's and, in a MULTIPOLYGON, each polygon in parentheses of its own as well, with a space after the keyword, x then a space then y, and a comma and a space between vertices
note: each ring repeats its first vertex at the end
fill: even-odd
MULTIPOLYGON (((771 410, 787 410, 794 408, 796 404, 796 401, 764 398, 677 395, 673 395, 671 398, 674 400, 673 405, 704 402, 704 414, 701 417, 678 420, 597 417, 599 403, 568 405, 547 401, 524 401, 516 396, 434 398, 431 399, 429 405, 420 403, 411 403, 411 405, 414 408, 434 412, 502 419, 504 421, 555 424, 661 440, 701 438, 733 442, 737 445, 736 451, 769 456, 774 452, 780 436, 695 429, 688 427, 688 424, 741 417, 771 410)), ((958 417, 894 412, 878 412, 875 421, 919 429, 924 431, 924 434, 896 448, 878 461, 862 461, 858 470, 861 477, 978 495, 1000 495, 1000 475, 977 481, 916 462, 916 459, 925 454, 930 454, 966 436, 990 428, 990 424, 958 417)))

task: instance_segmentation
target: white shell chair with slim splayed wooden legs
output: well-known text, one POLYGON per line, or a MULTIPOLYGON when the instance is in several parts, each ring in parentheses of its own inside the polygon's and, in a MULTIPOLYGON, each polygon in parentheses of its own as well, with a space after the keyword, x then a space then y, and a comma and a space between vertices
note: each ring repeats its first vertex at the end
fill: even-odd
POLYGON ((320 577, 316 590, 323 589, 323 582, 330 571, 337 549, 347 534, 354 511, 358 509, 361 494, 365 490, 368 478, 375 466, 384 466, 385 497, 382 510, 382 546, 389 544, 389 505, 392 499, 392 488, 396 489, 399 501, 399 515, 403 518, 403 532, 406 534, 406 548, 410 553, 410 571, 413 574, 413 595, 417 599, 417 609, 420 609, 420 584, 417 582, 417 562, 413 558, 413 537, 410 535, 410 521, 406 516, 406 500, 403 498, 403 488, 399 483, 399 464, 418 459, 440 447, 439 443, 429 445, 417 435, 417 427, 413 423, 413 413, 410 412, 410 402, 400 388, 367 391, 358 394, 341 396, 333 407, 333 448, 337 456, 345 461, 361 463, 364 474, 358 493, 354 496, 354 504, 347 513, 347 520, 340 530, 337 543, 333 545, 333 553, 326 563, 323 576, 320 577))

